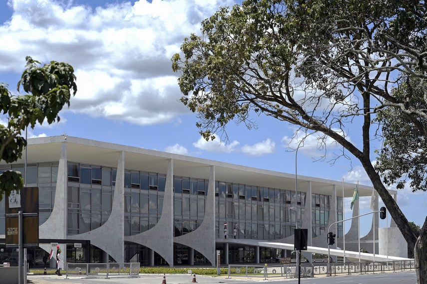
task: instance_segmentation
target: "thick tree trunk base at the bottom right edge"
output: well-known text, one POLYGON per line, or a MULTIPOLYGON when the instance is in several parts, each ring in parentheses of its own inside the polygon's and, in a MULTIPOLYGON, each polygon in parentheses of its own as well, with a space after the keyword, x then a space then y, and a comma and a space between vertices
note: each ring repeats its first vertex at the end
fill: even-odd
POLYGON ((415 268, 419 284, 427 283, 427 217, 414 249, 415 268))

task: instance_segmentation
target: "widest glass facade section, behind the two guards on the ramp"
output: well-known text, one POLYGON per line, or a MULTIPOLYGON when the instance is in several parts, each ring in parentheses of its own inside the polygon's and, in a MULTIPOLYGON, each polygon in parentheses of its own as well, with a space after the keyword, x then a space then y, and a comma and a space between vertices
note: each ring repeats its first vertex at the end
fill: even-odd
POLYGON ((216 236, 276 240, 293 235, 304 218, 306 193, 278 188, 217 181, 215 183, 216 236))

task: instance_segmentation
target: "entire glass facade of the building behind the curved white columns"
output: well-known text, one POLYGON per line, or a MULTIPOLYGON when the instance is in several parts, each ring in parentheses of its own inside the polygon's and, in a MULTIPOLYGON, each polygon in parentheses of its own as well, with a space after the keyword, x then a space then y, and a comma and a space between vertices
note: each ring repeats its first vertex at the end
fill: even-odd
MULTIPOLYGON (((23 172, 22 164, 2 166, 4 170, 23 172)), ((39 224, 50 216, 55 200, 58 162, 33 163, 27 166, 26 185, 39 188, 39 224)), ((111 214, 117 170, 102 165, 69 161, 67 164, 67 234, 75 235, 96 229, 106 222, 111 214)), ((196 230, 205 217, 208 193, 206 179, 188 176, 173 177, 173 224, 174 236, 196 230)), ((166 175, 164 173, 125 169, 124 171, 124 235, 135 235, 154 227, 162 214, 166 175)), ((254 186, 250 184, 215 181, 215 234, 224 238, 277 240, 294 234, 301 227, 305 215, 307 194, 294 190, 254 186)), ((320 236, 327 230, 330 214, 343 219, 341 197, 337 199, 336 211, 331 210, 332 196, 312 194, 312 235, 320 236)), ((0 234, 4 234, 5 198, 0 202, 0 234)), ((310 214, 310 213, 308 213, 310 214)), ((343 235, 342 224, 338 225, 338 237, 343 235)), ((221 247, 217 249, 222 250, 221 247)), ((72 250, 70 250, 72 251, 72 250)), ((174 245, 174 263, 188 263, 188 248, 174 245)), ((75 262, 84 256, 80 251, 67 258, 75 262)), ((94 259, 99 259, 96 252, 94 259)), ((125 244, 125 259, 148 264, 149 249, 135 244, 125 244)), ((281 251, 260 248, 261 262, 274 262, 281 251)), ((254 248, 232 246, 229 248, 230 263, 254 262, 254 248)), ((208 263, 199 252, 194 251, 195 263, 208 263)), ((155 263, 164 260, 155 254, 155 263)))

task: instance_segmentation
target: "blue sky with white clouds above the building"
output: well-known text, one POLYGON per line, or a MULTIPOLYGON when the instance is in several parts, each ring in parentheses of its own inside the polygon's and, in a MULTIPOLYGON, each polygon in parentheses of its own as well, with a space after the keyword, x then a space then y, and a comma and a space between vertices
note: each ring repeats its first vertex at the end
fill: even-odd
MULTIPOLYGON (((28 130, 30 138, 66 133, 291 174, 297 160, 298 175, 372 185, 357 159, 330 162, 341 151, 333 142, 324 159, 315 136, 296 155, 297 144, 291 140, 296 128, 273 118, 253 117, 257 127, 250 130, 230 123, 228 142, 200 137, 195 114, 178 101, 178 74, 172 72, 170 58, 179 53, 185 37, 200 34, 203 19, 235 3, 0 0, 0 82, 17 94, 15 86, 28 55, 42 63, 55 60, 73 66, 78 90, 70 107, 60 112, 59 123, 28 130)), ((0 123, 5 121, 0 117, 0 123)), ((351 139, 358 146, 362 143, 351 139)), ((375 162, 374 155, 372 159, 375 162)), ((346 217, 351 215, 350 201, 345 200, 346 217)), ((361 213, 369 212, 369 204, 370 197, 361 198, 361 213)), ((398 205, 409 221, 423 225, 424 193, 399 190, 398 205)), ((368 233, 371 220, 361 219, 362 235, 368 233)))

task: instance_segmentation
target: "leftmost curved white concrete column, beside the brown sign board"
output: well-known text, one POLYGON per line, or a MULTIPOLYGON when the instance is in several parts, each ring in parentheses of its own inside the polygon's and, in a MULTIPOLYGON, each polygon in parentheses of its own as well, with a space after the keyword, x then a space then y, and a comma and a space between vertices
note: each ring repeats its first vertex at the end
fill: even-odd
POLYGON ((55 202, 49 218, 38 227, 40 239, 63 240, 67 237, 67 176, 67 143, 63 142, 59 155, 55 202))

